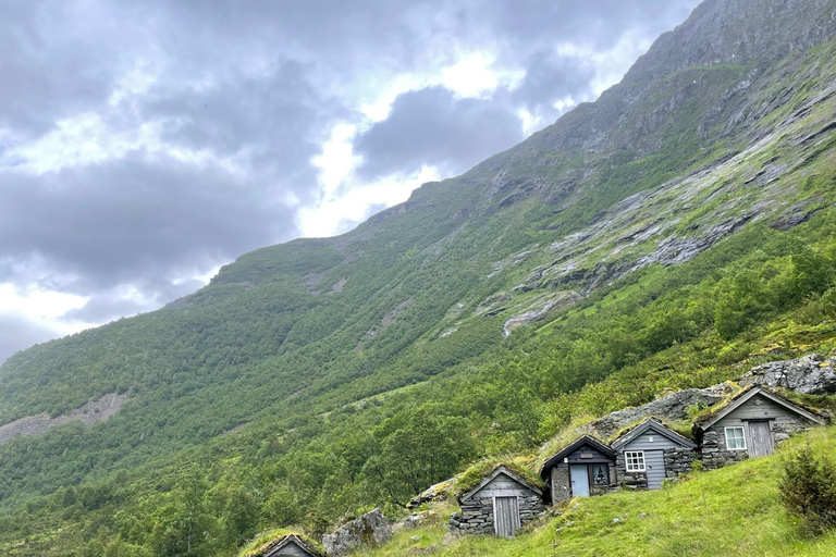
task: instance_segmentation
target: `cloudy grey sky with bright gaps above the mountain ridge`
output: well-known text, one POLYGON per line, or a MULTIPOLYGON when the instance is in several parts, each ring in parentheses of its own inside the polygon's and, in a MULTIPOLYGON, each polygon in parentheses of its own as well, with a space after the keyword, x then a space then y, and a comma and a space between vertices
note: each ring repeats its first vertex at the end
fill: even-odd
POLYGON ((0 0, 0 362, 460 174, 697 3, 0 0))

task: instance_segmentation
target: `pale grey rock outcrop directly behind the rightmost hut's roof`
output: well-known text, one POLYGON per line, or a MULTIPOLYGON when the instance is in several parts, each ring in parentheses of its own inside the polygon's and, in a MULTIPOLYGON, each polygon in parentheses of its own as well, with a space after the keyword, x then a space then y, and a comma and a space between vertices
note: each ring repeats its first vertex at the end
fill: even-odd
POLYGON ((836 358, 826 360, 820 354, 811 354, 797 360, 764 363, 743 374, 739 383, 783 387, 806 395, 831 395, 836 393, 836 358))

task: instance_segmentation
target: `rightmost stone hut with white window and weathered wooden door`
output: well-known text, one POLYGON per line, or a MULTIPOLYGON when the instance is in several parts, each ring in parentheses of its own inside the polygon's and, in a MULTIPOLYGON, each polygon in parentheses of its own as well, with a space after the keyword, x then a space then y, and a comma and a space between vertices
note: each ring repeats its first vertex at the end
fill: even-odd
POLYGON ((775 446, 825 420, 766 387, 743 391, 693 425, 706 470, 772 455, 775 446))

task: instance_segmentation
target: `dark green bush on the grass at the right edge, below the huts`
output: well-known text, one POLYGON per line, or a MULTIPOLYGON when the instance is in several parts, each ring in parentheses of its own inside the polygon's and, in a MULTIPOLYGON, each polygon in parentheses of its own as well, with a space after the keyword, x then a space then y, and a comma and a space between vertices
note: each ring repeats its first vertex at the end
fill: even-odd
POLYGON ((836 466, 808 445, 784 461, 780 498, 814 534, 836 527, 836 466))

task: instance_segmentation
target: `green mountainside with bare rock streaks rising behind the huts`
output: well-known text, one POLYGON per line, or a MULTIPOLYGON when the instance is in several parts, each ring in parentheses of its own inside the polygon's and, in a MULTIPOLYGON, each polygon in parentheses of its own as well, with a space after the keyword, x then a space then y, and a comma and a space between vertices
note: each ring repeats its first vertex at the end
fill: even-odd
POLYGON ((834 0, 705 0, 466 174, 11 357, 0 548, 180 555, 200 517, 224 555, 746 358, 829 350, 835 39, 834 0))

